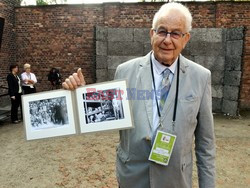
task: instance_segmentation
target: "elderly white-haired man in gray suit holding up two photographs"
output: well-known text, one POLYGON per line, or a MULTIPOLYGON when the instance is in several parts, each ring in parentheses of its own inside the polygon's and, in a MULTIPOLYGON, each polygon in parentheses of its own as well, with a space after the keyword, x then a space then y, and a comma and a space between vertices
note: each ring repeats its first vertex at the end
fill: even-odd
MULTIPOLYGON (((199 187, 215 187, 211 73, 180 54, 190 39, 191 22, 185 6, 164 4, 150 30, 152 52, 116 70, 115 79, 126 79, 129 88, 153 93, 148 100, 131 99, 135 128, 120 131, 116 168, 121 188, 192 187, 193 140, 199 187), (160 133, 162 143, 174 140, 167 152, 160 133), (167 156, 167 163, 153 159, 152 152, 167 156)), ((63 86, 84 84, 79 69, 63 86)))

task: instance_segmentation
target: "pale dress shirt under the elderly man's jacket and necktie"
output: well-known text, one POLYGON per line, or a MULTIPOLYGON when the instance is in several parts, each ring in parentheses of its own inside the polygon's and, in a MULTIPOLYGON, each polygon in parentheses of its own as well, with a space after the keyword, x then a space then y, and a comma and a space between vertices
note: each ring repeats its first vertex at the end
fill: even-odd
MULTIPOLYGON (((162 65, 161 63, 159 63, 159 61, 157 61, 155 59, 154 53, 151 54, 151 59, 152 59, 152 64, 153 64, 154 80, 155 80, 155 87, 156 87, 156 88, 154 88, 154 84, 152 83, 152 90, 156 89, 156 91, 159 91, 159 87, 160 87, 161 81, 162 81, 162 74, 161 73, 166 68, 168 68, 170 70, 169 81, 172 84, 178 58, 174 61, 174 63, 170 67, 167 67, 167 66, 162 65)), ((157 92, 157 93, 159 93, 159 92, 157 92)), ((157 96, 157 101, 158 101, 158 104, 159 104, 160 96, 157 96)), ((158 116, 158 110, 157 110, 157 105, 156 105, 156 100, 155 100, 155 92, 153 92, 153 127, 152 127, 152 135, 155 134, 155 131, 156 131, 158 125, 159 125, 159 116, 158 116)))

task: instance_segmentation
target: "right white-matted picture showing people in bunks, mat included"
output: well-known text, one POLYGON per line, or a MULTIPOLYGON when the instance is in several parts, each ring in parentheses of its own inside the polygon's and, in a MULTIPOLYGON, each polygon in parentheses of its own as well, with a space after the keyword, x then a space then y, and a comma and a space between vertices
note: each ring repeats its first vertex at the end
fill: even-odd
POLYGON ((133 127, 125 80, 80 87, 76 101, 81 133, 133 127))

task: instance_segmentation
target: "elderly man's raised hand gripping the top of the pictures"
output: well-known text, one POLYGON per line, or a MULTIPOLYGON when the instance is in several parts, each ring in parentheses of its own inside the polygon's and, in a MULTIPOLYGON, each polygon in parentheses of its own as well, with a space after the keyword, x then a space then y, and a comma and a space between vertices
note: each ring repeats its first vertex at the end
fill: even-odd
POLYGON ((63 88, 68 90, 75 90, 79 86, 84 85, 86 85, 86 82, 84 80, 81 68, 77 70, 77 73, 72 74, 65 79, 65 82, 62 83, 63 88))

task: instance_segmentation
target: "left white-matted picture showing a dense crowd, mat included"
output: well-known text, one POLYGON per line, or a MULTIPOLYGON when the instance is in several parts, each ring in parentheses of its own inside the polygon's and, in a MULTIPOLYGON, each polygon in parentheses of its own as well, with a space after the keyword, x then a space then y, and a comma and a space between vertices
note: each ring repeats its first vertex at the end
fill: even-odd
POLYGON ((71 91, 23 95, 22 105, 27 140, 76 134, 71 91))

